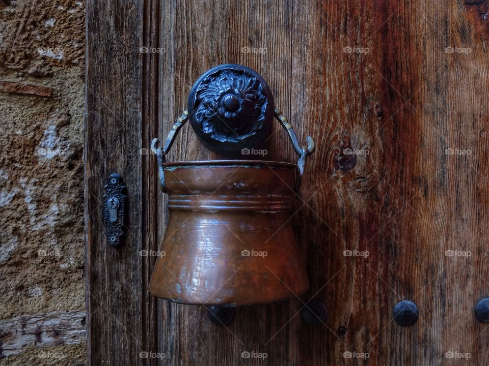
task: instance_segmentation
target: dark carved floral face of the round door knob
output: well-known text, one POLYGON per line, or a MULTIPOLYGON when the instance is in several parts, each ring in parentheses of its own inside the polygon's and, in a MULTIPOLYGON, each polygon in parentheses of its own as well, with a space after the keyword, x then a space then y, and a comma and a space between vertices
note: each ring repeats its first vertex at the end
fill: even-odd
POLYGON ((195 123, 208 140, 238 146, 268 133, 274 112, 263 79, 232 68, 205 76, 196 85, 193 107, 195 123))

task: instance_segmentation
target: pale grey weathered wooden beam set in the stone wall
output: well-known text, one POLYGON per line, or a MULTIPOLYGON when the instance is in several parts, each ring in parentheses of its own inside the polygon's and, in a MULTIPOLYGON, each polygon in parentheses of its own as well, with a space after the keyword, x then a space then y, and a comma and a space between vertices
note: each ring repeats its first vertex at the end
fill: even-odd
POLYGON ((85 311, 20 315, 0 321, 0 354, 22 353, 29 346, 51 347, 86 342, 85 311))

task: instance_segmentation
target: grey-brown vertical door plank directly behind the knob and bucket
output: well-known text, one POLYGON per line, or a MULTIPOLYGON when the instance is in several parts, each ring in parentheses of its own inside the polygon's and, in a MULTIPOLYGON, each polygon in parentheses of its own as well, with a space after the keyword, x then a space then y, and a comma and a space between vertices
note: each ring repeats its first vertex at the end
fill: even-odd
MULTIPOLYGON (((166 2, 162 9, 160 136, 166 136, 174 119, 186 108, 194 81, 209 68, 225 63, 246 65, 268 81, 277 104, 293 98, 291 80, 278 76, 291 69, 290 4, 274 2, 166 2), (276 32, 270 32, 273 26, 276 32), (286 34, 284 37, 283 35, 286 34)), ((280 104, 279 104, 280 103, 280 104)), ((290 103, 290 102, 289 102, 290 103)), ((295 161, 283 129, 274 126, 274 145, 267 159, 295 161)), ((272 138, 269 139, 271 141, 272 138)), ((218 156, 205 149, 186 126, 179 134, 168 161, 208 160, 218 156)), ((289 359, 289 334, 280 329, 297 311, 300 301, 239 308, 231 325, 210 323, 205 307, 182 306, 158 300, 163 310, 160 329, 161 364, 245 364, 241 353, 267 352, 267 362, 285 365, 289 359), (267 344, 279 333, 277 341, 267 344)), ((294 320, 297 321, 297 318, 294 320)), ((254 361, 256 362, 256 360, 254 361)))

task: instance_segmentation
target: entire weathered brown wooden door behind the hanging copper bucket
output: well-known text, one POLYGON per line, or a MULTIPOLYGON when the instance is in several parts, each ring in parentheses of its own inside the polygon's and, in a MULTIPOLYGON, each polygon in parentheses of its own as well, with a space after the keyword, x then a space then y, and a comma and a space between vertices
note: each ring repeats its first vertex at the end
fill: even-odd
MULTIPOLYGON (((487 12, 472 0, 90 0, 91 364, 487 364, 489 330, 473 312, 489 297, 487 12), (310 290, 238 308, 218 327, 204 307, 147 291, 154 260, 139 252, 158 247, 165 198, 154 157, 141 151, 167 135, 197 77, 224 63, 259 72, 317 149, 293 217, 310 290), (107 245, 100 217, 112 171, 128 187, 120 249, 107 245), (326 304, 324 324, 302 320, 309 299, 326 304), (403 299, 419 308, 409 327, 392 317, 403 299)), ((278 125, 268 152, 295 161, 278 125)), ((187 126, 168 160, 214 158, 187 126)))

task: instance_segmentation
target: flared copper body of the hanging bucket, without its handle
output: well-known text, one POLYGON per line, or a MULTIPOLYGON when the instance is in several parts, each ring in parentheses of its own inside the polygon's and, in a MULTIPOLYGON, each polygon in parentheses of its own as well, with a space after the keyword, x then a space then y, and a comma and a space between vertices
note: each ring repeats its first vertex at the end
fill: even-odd
POLYGON ((292 227, 296 165, 162 165, 169 220, 151 293, 186 304, 237 306, 307 291, 292 227))

